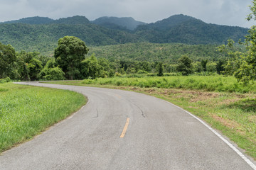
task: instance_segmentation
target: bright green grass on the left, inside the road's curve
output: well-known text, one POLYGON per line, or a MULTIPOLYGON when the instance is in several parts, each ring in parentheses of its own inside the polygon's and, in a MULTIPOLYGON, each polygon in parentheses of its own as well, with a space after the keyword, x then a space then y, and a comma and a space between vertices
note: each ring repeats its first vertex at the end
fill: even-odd
POLYGON ((38 135, 86 101, 73 91, 0 84, 0 152, 38 135))

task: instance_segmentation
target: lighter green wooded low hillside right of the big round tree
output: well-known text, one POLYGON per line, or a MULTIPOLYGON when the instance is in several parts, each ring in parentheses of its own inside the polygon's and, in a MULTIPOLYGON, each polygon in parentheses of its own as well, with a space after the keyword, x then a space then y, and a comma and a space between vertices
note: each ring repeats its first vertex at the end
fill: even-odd
MULTIPOLYGON (((186 45, 179 43, 129 43, 124 45, 107 45, 90 47, 89 55, 95 53, 96 57, 113 60, 166 62, 176 64, 182 55, 188 55, 193 62, 208 58, 217 61, 223 53, 217 51, 218 45, 186 45)), ((244 49, 238 49, 240 51, 244 49)))

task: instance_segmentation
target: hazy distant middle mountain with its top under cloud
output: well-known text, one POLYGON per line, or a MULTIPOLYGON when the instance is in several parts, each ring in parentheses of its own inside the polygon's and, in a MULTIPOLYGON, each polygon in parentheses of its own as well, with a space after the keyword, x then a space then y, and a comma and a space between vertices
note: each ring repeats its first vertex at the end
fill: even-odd
POLYGON ((103 16, 100 18, 97 18, 95 21, 92 21, 92 23, 95 23, 100 26, 105 26, 107 28, 112 29, 119 29, 119 30, 134 30, 139 25, 144 25, 146 23, 143 23, 141 21, 135 21, 132 17, 108 17, 103 16))

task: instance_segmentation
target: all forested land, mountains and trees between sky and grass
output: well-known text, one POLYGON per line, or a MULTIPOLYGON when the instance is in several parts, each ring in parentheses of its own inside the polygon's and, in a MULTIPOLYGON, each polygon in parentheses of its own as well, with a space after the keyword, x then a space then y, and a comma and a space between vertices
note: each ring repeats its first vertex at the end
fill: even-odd
POLYGON ((247 31, 182 14, 149 24, 114 17, 22 18, 0 23, 0 79, 223 74, 248 83, 255 77, 248 73, 254 28, 247 31))

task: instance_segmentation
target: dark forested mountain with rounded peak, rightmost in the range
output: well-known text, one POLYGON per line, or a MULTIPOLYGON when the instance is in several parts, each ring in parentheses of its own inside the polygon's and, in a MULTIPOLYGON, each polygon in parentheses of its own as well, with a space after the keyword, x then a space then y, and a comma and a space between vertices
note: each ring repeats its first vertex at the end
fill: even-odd
POLYGON ((156 23, 138 26, 135 34, 154 43, 223 44, 244 39, 247 28, 204 23, 191 16, 175 15, 156 23))

